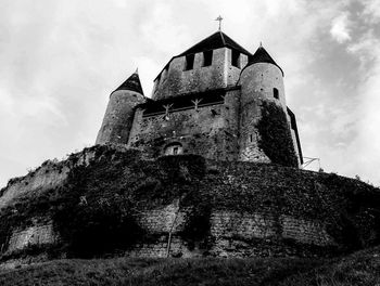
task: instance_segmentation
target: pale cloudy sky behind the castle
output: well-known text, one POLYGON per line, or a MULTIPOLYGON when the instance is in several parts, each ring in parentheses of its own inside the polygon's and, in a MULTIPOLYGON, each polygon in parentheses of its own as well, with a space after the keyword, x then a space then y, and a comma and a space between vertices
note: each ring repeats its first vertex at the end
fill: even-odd
POLYGON ((284 70, 304 156, 380 185, 380 0, 2 0, 0 14, 0 186, 92 145, 110 92, 139 67, 150 96, 219 14, 284 70))

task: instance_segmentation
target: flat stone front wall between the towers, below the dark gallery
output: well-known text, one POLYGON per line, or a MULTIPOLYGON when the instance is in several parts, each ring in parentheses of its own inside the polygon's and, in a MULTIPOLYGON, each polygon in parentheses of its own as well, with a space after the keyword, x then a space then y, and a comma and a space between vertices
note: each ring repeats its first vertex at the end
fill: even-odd
POLYGON ((219 160, 237 159, 239 95, 239 90, 229 90, 225 104, 174 110, 167 116, 143 117, 143 110, 138 109, 128 145, 151 158, 164 155, 167 145, 179 143, 185 154, 219 160))

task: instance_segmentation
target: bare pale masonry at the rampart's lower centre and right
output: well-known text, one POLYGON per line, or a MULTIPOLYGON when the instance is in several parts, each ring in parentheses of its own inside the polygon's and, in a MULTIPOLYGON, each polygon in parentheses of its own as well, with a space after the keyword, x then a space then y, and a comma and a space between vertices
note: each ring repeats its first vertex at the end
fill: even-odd
POLYGON ((305 253, 300 245, 304 245, 305 248, 307 245, 314 246, 318 250, 318 247, 335 246, 334 239, 319 222, 290 216, 276 218, 270 213, 216 210, 210 218, 206 249, 202 243, 189 243, 179 235, 183 230, 186 213, 179 211, 176 203, 163 209, 144 212, 140 219, 141 226, 150 234, 159 235, 154 240, 148 239, 132 245, 127 253, 135 257, 255 257, 270 256, 275 252, 279 256, 286 256, 286 252, 307 256, 318 253, 305 253), (286 239, 293 243, 287 245, 283 243, 286 239), (295 247, 294 244, 299 245, 295 247))

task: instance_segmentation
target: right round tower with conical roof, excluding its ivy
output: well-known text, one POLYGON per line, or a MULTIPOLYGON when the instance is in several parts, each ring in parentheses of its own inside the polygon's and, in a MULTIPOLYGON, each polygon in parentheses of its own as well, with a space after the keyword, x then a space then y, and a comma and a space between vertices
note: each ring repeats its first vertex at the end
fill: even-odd
POLYGON ((282 77, 282 69, 262 46, 241 72, 240 160, 270 161, 258 146, 257 125, 264 102, 273 102, 287 110, 282 77))

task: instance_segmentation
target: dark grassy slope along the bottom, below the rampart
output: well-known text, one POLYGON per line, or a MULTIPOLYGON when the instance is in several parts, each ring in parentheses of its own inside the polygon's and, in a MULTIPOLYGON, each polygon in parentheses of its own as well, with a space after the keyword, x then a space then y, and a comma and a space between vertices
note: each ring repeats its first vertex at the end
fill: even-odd
POLYGON ((249 259, 72 259, 0 273, 0 285, 282 285, 380 284, 380 247, 332 260, 249 259))

